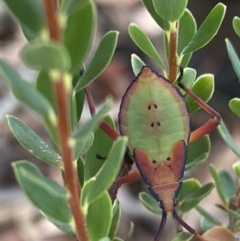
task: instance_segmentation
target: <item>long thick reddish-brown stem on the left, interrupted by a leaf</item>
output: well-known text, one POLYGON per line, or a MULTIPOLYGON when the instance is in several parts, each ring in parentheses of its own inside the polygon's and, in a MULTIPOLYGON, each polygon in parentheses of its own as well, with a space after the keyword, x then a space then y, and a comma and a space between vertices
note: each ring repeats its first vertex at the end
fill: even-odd
MULTIPOLYGON (((61 33, 57 22, 57 15, 54 8, 54 0, 44 0, 46 20, 49 28, 51 40, 61 41, 61 33)), ((53 81, 54 92, 57 103, 57 129, 62 150, 62 159, 64 163, 64 180, 65 185, 70 192, 69 205, 76 224, 76 235, 78 240, 88 241, 86 230, 86 220, 79 204, 79 190, 77 172, 74 167, 73 150, 70 143, 71 127, 69 120, 70 110, 70 88, 68 88, 61 73, 59 79, 53 81)))

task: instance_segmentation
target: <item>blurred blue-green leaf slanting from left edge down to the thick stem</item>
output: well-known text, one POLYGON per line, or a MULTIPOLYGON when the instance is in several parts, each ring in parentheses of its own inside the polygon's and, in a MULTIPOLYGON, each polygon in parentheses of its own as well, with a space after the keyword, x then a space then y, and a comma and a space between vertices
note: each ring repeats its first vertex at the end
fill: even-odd
POLYGON ((29 108, 46 118, 49 118, 53 114, 51 105, 45 97, 30 83, 21 79, 20 76, 1 59, 0 75, 8 81, 16 98, 26 104, 29 108))

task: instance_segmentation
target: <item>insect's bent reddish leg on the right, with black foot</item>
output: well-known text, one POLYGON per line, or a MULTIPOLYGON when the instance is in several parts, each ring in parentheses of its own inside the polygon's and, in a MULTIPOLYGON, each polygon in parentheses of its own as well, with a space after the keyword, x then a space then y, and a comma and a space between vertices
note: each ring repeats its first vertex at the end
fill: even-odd
POLYGON ((182 76, 183 76, 183 68, 180 68, 180 75, 177 80, 178 85, 186 92, 187 95, 193 98, 207 113, 209 113, 214 117, 214 119, 208 120, 205 124, 203 124, 197 130, 191 133, 189 142, 192 142, 197 139, 200 139, 204 135, 214 130, 221 123, 221 116, 217 111, 215 111, 212 107, 210 107, 207 103, 205 103, 202 99, 200 99, 197 95, 195 95, 190 89, 188 89, 181 82, 182 76))

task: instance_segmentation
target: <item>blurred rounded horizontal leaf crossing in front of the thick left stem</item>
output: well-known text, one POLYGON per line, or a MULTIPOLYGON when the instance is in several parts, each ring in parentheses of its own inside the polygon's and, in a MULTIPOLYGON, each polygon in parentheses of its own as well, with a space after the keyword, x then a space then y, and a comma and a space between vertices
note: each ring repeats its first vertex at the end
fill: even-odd
POLYGON ((68 70, 71 59, 67 49, 59 43, 34 43, 21 51, 25 64, 34 69, 68 70))

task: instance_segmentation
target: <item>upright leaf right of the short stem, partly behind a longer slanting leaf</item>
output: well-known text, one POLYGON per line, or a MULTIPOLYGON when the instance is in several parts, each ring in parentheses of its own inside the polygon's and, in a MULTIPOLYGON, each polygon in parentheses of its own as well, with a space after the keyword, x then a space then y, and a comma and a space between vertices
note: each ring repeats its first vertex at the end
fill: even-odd
POLYGON ((197 24, 192 15, 192 13, 185 9, 184 14, 182 15, 179 21, 179 30, 178 30, 178 54, 180 55, 182 50, 188 45, 192 37, 197 31, 197 24))

